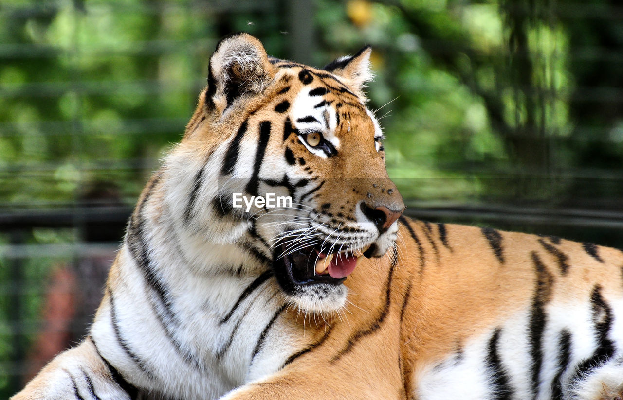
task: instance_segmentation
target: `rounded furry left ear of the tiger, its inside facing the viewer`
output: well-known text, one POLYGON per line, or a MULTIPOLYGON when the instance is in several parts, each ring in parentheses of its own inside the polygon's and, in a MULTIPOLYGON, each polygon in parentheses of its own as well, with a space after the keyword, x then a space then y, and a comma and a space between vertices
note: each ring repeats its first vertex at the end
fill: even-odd
POLYGON ((210 58, 206 109, 223 113, 242 96, 262 93, 273 78, 262 43, 247 33, 222 39, 210 58))

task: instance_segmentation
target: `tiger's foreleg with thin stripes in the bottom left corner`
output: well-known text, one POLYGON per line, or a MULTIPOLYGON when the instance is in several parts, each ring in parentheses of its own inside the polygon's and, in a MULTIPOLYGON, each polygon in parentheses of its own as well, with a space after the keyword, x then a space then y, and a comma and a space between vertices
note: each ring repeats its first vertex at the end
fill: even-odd
POLYGON ((130 400, 128 388, 98 355, 87 338, 75 348, 64 351, 50 361, 12 400, 130 400))

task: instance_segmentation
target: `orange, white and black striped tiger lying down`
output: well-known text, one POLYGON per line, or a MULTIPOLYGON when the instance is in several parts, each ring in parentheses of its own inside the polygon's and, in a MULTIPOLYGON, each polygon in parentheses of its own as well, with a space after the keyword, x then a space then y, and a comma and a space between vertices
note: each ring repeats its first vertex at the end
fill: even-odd
POLYGON ((404 216, 371 51, 222 39, 88 335, 13 399, 620 400, 623 253, 404 216))

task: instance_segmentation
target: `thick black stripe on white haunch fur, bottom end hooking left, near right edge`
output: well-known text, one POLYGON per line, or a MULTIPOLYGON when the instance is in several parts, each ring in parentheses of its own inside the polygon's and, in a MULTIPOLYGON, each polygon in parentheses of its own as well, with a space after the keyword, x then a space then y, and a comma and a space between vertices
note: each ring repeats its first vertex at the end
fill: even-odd
POLYGON ((578 383, 579 380, 585 378, 593 370, 607 363, 616 353, 614 342, 608 337, 612 329, 612 308, 602 297, 601 286, 599 285, 592 289, 591 304, 597 348, 589 358, 576 367, 573 378, 571 378, 572 383, 578 383))

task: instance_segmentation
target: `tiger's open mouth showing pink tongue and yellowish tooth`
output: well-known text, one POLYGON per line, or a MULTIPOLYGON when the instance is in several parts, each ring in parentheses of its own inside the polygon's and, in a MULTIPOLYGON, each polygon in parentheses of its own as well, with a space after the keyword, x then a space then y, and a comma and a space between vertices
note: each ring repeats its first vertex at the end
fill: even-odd
MULTIPOLYGON (((288 241, 286 240, 285 243, 288 241)), ((304 248, 283 244, 273 254, 273 269, 277 281, 287 292, 297 286, 313 284, 338 285, 345 281, 362 257, 371 257, 374 244, 355 251, 331 251, 331 246, 313 244, 304 248), (290 250, 295 248, 295 250, 290 250)))

